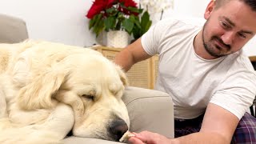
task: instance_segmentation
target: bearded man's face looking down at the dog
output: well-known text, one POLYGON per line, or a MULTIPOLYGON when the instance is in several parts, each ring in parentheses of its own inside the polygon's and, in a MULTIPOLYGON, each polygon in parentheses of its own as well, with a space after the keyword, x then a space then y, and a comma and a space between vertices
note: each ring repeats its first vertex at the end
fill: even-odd
POLYGON ((202 41, 214 58, 240 50, 256 33, 256 12, 238 0, 211 11, 205 18, 202 41))

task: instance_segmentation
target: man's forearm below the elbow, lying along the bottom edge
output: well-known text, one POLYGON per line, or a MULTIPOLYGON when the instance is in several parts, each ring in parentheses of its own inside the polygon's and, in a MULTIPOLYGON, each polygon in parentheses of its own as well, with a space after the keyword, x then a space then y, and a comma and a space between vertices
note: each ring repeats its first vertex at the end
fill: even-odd
POLYGON ((229 144, 224 136, 217 133, 198 132, 170 140, 173 144, 229 144))

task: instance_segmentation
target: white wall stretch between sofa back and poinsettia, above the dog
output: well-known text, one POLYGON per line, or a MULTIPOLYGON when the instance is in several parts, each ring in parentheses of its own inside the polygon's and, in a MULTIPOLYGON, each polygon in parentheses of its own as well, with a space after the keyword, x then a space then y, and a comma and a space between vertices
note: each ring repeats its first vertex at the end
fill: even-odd
POLYGON ((85 17, 92 0, 0 0, 0 13, 26 21, 30 38, 90 46, 85 17))

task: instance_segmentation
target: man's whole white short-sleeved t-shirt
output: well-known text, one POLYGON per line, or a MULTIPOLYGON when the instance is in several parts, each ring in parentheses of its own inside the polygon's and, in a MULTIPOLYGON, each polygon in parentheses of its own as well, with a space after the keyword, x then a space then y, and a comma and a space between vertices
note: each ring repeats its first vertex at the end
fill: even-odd
POLYGON ((146 53, 159 54, 155 89, 170 94, 175 118, 196 118, 211 102, 240 119, 255 98, 254 68, 242 50, 213 60, 199 57, 193 41, 201 29, 192 22, 165 19, 142 36, 146 53))

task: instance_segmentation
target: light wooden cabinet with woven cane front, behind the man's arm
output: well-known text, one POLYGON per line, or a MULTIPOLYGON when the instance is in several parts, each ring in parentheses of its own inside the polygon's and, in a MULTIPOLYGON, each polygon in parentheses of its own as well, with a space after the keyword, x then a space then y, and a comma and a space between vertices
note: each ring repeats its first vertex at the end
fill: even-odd
MULTIPOLYGON (((106 58, 113 60, 115 55, 123 49, 95 46, 94 50, 98 50, 106 58)), ((158 56, 136 63, 126 75, 130 86, 154 89, 154 83, 158 75, 158 56)))

